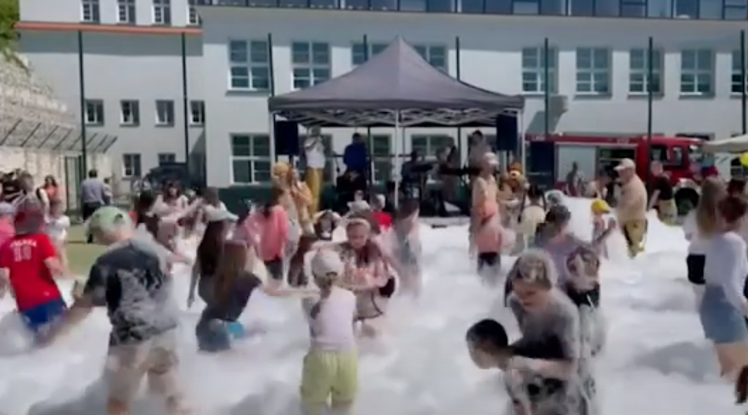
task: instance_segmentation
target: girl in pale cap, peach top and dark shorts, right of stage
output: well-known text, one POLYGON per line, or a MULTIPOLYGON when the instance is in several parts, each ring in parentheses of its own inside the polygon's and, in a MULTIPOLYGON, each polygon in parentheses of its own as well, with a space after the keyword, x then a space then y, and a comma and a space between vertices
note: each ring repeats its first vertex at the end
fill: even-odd
POLYGON ((501 218, 494 172, 499 165, 494 153, 482 156, 481 171, 473 180, 470 218, 472 245, 478 254, 478 272, 489 285, 497 284, 501 250, 501 218))

